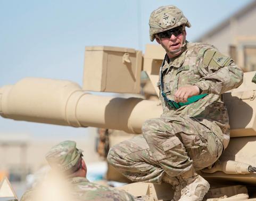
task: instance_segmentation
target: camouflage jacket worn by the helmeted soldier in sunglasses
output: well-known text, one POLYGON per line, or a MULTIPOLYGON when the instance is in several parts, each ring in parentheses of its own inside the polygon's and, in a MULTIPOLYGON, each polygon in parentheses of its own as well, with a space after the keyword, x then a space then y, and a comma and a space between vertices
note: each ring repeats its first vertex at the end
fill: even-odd
MULTIPOLYGON (((227 108, 221 94, 236 88, 243 81, 243 72, 232 58, 222 55, 209 44, 187 43, 179 56, 164 58, 162 65, 163 91, 174 100, 176 90, 184 85, 196 85, 202 94, 209 94, 199 101, 178 109, 170 107, 160 96, 162 118, 188 116, 208 127, 222 141, 224 148, 229 142, 227 108)), ((161 85, 161 70, 158 87, 161 85)))

